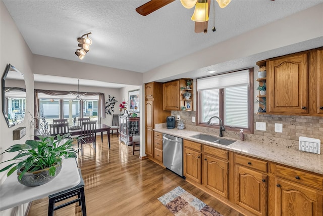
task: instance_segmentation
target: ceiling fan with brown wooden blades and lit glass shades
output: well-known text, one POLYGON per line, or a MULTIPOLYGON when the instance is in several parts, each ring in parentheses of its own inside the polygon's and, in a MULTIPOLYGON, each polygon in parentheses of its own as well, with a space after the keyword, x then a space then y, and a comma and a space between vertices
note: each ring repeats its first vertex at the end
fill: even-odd
MULTIPOLYGON (((147 16, 148 14, 150 14, 160 8, 163 8, 164 6, 170 4, 174 1, 175 0, 151 0, 151 1, 143 4, 142 6, 139 6, 138 8, 136 8, 136 11, 142 16, 147 16)), ((213 10, 215 10, 214 9, 215 1, 218 2, 220 8, 227 7, 229 5, 229 3, 231 2, 231 0, 213 0, 213 10)), ((275 1, 275 0, 271 0, 271 1, 275 1)), ((205 11, 207 10, 207 15, 206 15, 206 13, 204 13, 205 19, 199 20, 199 21, 194 20, 193 19, 193 16, 195 14, 195 11, 194 11, 194 14, 192 16, 192 20, 195 21, 195 30, 194 30, 195 33, 200 33, 200 32, 206 33, 211 0, 181 0, 181 3, 185 8, 188 8, 188 9, 193 8, 195 6, 195 11, 198 7, 198 4, 201 4, 201 5, 203 5, 202 7, 205 7, 205 11), (205 4, 206 2, 207 2, 207 4, 205 4), (207 7, 206 7, 206 5, 207 5, 207 7)), ((213 13, 214 13, 214 11, 213 11, 213 13)), ((214 17, 213 17, 213 19, 214 19, 214 17)), ((216 28, 214 27, 214 23, 213 23, 212 31, 213 32, 216 31, 216 28)))

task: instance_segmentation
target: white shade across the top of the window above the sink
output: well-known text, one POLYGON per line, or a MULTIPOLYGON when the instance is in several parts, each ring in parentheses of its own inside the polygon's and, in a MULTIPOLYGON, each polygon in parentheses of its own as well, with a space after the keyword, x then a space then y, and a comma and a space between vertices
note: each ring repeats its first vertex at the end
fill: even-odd
POLYGON ((249 70, 214 75, 197 80, 197 91, 206 89, 224 89, 249 83, 249 70))

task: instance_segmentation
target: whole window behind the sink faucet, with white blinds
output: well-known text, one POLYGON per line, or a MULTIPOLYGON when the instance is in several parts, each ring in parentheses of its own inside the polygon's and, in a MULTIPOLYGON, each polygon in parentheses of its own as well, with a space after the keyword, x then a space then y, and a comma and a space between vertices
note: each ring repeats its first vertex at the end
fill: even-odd
MULTIPOLYGON (((199 125, 219 116, 227 130, 253 131, 253 69, 197 79, 199 125), (250 81, 251 80, 251 81, 250 81)), ((219 126, 219 119, 211 123, 219 126)))

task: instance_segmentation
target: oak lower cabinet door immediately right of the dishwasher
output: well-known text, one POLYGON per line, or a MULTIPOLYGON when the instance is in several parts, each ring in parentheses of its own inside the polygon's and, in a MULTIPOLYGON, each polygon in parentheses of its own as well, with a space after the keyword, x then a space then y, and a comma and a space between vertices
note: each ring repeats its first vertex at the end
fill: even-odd
POLYGON ((184 176, 198 184, 202 184, 201 153, 184 148, 184 176))

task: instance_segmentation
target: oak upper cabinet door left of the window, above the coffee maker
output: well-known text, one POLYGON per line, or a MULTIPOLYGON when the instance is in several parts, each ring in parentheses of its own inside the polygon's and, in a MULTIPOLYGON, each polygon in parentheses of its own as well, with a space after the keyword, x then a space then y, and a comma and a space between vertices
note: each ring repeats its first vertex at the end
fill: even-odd
POLYGON ((164 110, 180 110, 180 81, 175 80, 163 84, 164 110))

